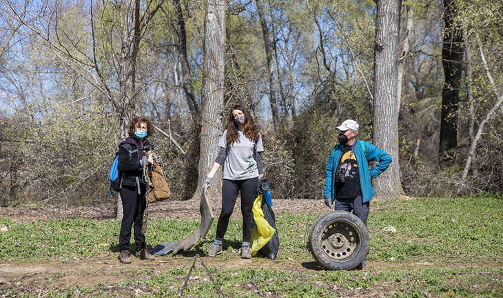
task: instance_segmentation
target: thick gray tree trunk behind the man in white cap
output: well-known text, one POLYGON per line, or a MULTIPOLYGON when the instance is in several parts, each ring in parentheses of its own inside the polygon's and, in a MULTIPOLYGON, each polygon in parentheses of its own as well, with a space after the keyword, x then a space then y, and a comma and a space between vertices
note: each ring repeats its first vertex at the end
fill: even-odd
POLYGON ((375 181, 378 199, 400 197, 398 162, 398 58, 401 0, 378 0, 374 61, 373 143, 393 158, 375 181))

